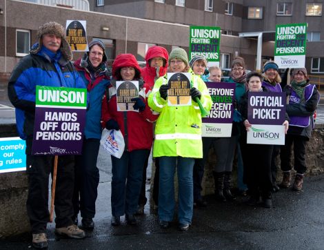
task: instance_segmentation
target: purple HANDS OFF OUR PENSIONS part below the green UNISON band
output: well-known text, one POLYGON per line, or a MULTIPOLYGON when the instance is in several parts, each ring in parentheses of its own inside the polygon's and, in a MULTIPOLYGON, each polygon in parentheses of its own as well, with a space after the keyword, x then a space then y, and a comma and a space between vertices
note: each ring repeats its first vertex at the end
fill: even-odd
POLYGON ((32 155, 81 155, 85 112, 36 107, 32 155))

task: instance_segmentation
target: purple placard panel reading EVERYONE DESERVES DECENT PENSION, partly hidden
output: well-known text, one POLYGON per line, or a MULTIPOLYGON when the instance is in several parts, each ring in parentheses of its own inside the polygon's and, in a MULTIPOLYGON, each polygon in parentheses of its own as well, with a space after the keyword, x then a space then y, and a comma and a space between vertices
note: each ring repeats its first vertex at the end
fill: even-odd
POLYGON ((235 83, 206 81, 205 84, 213 104, 209 115, 203 117, 203 123, 232 123, 235 83))

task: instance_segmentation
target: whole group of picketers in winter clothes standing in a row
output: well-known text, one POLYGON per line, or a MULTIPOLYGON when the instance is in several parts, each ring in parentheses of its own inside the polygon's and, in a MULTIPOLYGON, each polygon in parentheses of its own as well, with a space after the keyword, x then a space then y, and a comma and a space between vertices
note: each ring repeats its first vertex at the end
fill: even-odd
MULTIPOLYGON (((199 105, 207 112, 212 99, 204 81, 221 81, 221 69, 213 66, 207 70, 204 57, 190 61, 183 48, 168 51, 160 46, 148 49, 146 66, 141 68, 132 54, 117 55, 112 70, 107 68, 105 46, 100 40, 88 44, 89 51, 71 63, 72 52, 59 23, 49 22, 37 32, 37 43, 30 55, 23 57, 14 68, 8 84, 8 96, 16 108, 17 131, 26 140, 26 169, 28 173, 27 212, 32 227, 32 244, 48 247, 45 229, 49 221, 48 184, 53 158, 32 155, 34 133, 35 87, 60 86, 87 88, 88 109, 81 155, 59 157, 57 189, 55 195, 56 229, 58 235, 84 238, 84 230, 94 229, 96 213, 101 132, 103 128, 121 131, 125 150, 120 158, 112 160, 112 226, 121 224, 125 215, 127 224, 136 224, 136 216, 143 214, 146 168, 153 146, 156 173, 154 176, 154 202, 158 205, 159 226, 170 227, 174 220, 174 174, 177 171, 178 222, 181 231, 192 223, 194 205, 206 206, 201 196, 201 182, 210 146, 214 147, 215 198, 233 200, 231 192, 232 166, 236 152, 239 179, 250 191, 249 204, 258 204, 262 198, 265 207, 272 206, 272 191, 276 186, 276 156, 281 149, 281 186, 289 187, 291 181, 292 144, 294 144, 294 169, 297 171, 294 189, 301 190, 305 166, 305 144, 310 139, 314 125, 312 115, 319 95, 308 83, 305 68, 292 71, 292 83, 283 91, 289 97, 287 135, 285 146, 246 144, 248 91, 281 92, 278 66, 269 61, 264 73, 245 74, 241 57, 232 61, 229 82, 235 83, 234 119, 231 137, 201 137, 202 115, 199 105), (167 73, 190 74, 189 106, 168 104, 167 73), (112 76, 111 76, 112 74, 112 76), (133 98, 134 111, 117 108, 117 81, 138 81, 139 97, 133 98), (288 128, 289 122, 289 128, 288 128), (154 126, 155 124, 155 126, 154 126), (241 176, 241 177, 240 177, 241 176), (81 228, 78 215, 81 213, 81 228)), ((242 187, 246 189, 246 187, 242 187)))

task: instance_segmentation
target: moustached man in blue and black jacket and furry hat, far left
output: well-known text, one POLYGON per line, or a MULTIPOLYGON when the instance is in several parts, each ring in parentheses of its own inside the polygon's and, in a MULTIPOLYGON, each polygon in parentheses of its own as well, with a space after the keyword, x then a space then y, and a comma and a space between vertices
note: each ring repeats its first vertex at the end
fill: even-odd
MULTIPOLYGON (((72 51, 65 40, 63 26, 49 22, 39 27, 37 43, 30 55, 23 57, 12 71, 8 96, 16 108, 17 131, 26 140, 26 171, 28 173, 27 213, 32 227, 32 245, 48 247, 46 225, 49 222, 48 184, 52 171, 52 156, 31 155, 35 118, 36 86, 85 88, 70 59, 72 51)), ((59 157, 57 189, 55 191, 55 233, 69 238, 85 237, 83 230, 72 222, 74 185, 74 155, 59 157)))

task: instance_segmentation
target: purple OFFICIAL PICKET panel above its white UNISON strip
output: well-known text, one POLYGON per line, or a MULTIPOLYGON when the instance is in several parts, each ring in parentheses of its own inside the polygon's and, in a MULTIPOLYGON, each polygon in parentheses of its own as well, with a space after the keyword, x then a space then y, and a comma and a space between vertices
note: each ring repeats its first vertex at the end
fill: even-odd
POLYGON ((248 98, 247 119, 250 124, 283 124, 285 93, 249 92, 248 98))

